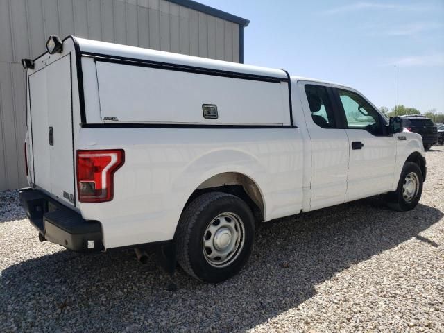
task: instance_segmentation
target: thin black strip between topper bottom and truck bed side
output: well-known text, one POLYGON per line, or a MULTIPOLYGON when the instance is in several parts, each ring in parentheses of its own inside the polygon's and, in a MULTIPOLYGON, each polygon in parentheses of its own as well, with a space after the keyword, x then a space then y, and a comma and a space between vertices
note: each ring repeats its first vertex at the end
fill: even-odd
POLYGON ((209 123, 83 123, 83 128, 298 128, 293 125, 230 125, 209 123))

